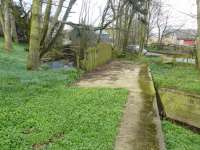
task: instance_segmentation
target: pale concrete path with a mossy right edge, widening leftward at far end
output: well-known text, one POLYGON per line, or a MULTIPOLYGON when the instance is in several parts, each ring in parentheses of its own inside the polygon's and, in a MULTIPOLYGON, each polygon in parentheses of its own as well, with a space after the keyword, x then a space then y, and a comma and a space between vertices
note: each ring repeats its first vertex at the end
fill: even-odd
POLYGON ((115 61, 87 74, 78 86, 129 90, 115 150, 165 149, 155 91, 146 66, 115 61))

